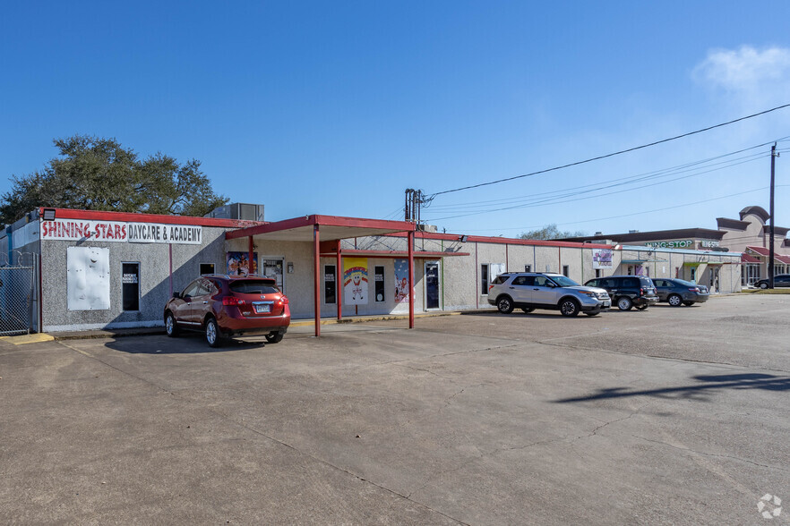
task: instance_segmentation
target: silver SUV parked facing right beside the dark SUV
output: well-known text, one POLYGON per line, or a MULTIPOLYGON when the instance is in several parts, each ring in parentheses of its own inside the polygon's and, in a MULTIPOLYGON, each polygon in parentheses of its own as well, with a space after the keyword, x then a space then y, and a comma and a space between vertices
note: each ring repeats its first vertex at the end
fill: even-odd
POLYGON ((562 274, 506 272, 496 276, 488 289, 488 302, 503 314, 520 308, 559 310, 562 316, 584 312, 596 316, 608 310, 612 300, 604 289, 587 287, 562 274))

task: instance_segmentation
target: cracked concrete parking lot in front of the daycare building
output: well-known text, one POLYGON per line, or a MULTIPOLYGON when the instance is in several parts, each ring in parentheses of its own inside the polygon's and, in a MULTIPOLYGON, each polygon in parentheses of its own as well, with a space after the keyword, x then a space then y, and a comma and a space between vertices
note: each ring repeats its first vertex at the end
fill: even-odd
POLYGON ((0 521, 784 523, 758 505, 790 498, 788 315, 751 294, 0 343, 0 521))

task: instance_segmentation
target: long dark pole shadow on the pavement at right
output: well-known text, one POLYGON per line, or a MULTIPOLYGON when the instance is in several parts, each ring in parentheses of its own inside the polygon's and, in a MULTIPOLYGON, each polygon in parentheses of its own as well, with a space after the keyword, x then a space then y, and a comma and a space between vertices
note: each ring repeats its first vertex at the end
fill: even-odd
POLYGON ((664 387, 642 391, 629 390, 626 387, 600 389, 595 395, 576 398, 563 398, 556 403, 587 402, 606 398, 623 398, 626 396, 656 396, 658 398, 700 399, 705 394, 717 389, 763 389, 766 391, 790 391, 790 377, 750 373, 740 375, 718 375, 693 377, 702 382, 693 386, 664 387), (702 395, 702 396, 700 396, 702 395))

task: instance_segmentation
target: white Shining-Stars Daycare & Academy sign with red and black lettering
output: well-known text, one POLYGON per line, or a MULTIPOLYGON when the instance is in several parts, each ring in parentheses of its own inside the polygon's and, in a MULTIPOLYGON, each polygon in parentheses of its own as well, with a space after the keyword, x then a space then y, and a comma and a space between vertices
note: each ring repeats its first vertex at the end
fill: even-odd
POLYGON ((41 224, 41 239, 199 245, 202 242, 202 227, 194 225, 162 225, 159 223, 56 219, 55 221, 45 221, 41 224))

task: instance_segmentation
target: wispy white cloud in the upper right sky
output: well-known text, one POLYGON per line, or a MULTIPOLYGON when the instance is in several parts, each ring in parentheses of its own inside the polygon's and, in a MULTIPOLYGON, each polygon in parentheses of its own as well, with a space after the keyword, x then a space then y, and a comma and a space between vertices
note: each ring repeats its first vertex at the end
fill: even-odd
POLYGON ((790 49, 742 46, 715 49, 694 69, 694 78, 713 88, 741 92, 776 92, 790 83, 790 49))

